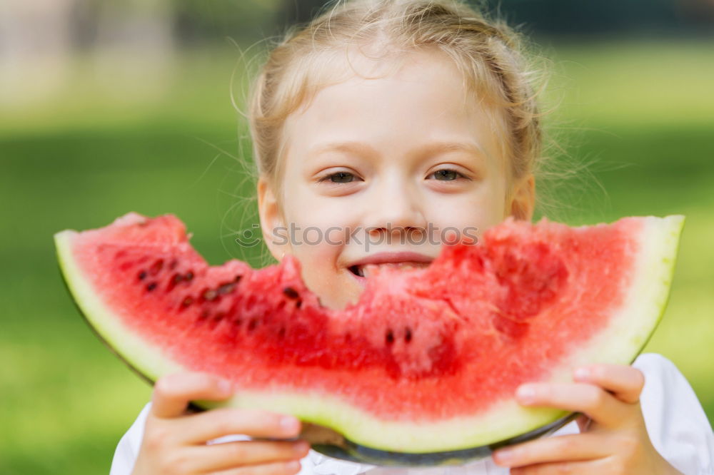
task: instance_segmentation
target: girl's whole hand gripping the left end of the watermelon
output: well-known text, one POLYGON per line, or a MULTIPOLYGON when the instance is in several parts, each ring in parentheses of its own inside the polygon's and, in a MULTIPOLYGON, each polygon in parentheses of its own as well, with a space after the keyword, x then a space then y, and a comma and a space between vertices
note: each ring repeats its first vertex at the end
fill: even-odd
POLYGON ((206 445, 231 434, 288 439, 300 433, 292 416, 244 409, 212 409, 188 414, 194 399, 231 397, 230 383, 201 373, 163 377, 154 386, 151 412, 136 458, 134 475, 292 475, 310 449, 306 441, 236 441, 206 445))

